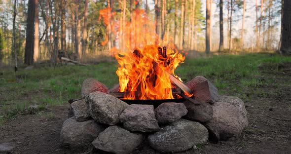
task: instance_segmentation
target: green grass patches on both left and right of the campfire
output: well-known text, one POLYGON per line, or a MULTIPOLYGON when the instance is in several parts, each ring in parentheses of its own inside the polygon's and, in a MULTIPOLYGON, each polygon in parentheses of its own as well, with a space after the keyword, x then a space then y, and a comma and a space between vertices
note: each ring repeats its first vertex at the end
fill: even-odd
MULTIPOLYGON (((291 57, 269 54, 223 55, 186 59, 175 73, 185 82, 196 76, 204 76, 218 87, 220 94, 245 98, 247 94, 258 93, 264 85, 276 86, 272 77, 262 78, 258 67, 283 62, 291 62, 291 57)), ((89 77, 111 88, 118 83, 116 68, 116 62, 107 62, 89 66, 38 67, 17 73, 12 69, 3 70, 0 76, 0 121, 20 114, 34 114, 45 110, 47 106, 60 106, 70 98, 78 98, 83 80, 89 77), (30 105, 39 105, 39 109, 30 111, 30 105)), ((274 68, 271 71, 279 70, 274 68)))

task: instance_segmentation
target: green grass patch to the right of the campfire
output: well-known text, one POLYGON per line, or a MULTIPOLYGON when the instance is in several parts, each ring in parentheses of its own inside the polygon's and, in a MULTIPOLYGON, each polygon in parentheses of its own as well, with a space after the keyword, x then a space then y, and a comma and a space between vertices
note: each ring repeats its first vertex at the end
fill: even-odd
POLYGON ((175 73, 184 81, 204 76, 216 85, 221 94, 245 97, 245 91, 257 90, 268 84, 278 86, 273 78, 262 78, 259 67, 283 62, 291 62, 291 57, 268 54, 223 55, 186 59, 175 73))

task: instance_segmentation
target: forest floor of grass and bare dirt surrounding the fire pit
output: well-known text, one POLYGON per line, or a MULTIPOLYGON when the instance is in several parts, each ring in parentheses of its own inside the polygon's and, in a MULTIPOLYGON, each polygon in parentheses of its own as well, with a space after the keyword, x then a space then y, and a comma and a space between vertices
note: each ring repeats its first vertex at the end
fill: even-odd
MULTIPOLYGON (((35 67, 0 72, 0 143, 13 154, 72 153, 60 149, 60 130, 70 98, 93 77, 109 88, 118 83, 116 62, 89 66, 35 67), (29 108, 30 105, 38 105, 29 108)), ((183 81, 204 76, 221 95, 238 96, 249 114, 240 138, 209 143, 189 154, 288 154, 291 152, 291 57, 276 54, 223 55, 186 59, 176 74, 183 81)), ((154 153, 149 147, 139 153, 154 153)))

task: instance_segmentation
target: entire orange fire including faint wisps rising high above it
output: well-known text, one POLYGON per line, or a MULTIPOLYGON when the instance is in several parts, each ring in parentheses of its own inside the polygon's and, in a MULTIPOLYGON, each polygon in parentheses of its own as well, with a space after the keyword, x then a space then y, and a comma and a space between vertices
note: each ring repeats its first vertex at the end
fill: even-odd
MULTIPOLYGON (((168 32, 160 41, 155 33, 156 24, 144 9, 136 8, 130 14, 130 20, 126 20, 123 9, 119 20, 113 17, 116 12, 110 11, 111 8, 101 10, 99 20, 104 19, 108 34, 109 30, 113 32, 113 39, 117 42, 110 53, 119 63, 116 74, 119 92, 126 92, 124 99, 173 99, 171 88, 175 85, 171 83, 169 74, 175 76, 174 70, 185 57, 170 42, 171 38, 166 35, 168 32), (113 19, 112 24, 109 24, 109 19, 113 19)), ((106 36, 102 45, 108 41, 106 36)))

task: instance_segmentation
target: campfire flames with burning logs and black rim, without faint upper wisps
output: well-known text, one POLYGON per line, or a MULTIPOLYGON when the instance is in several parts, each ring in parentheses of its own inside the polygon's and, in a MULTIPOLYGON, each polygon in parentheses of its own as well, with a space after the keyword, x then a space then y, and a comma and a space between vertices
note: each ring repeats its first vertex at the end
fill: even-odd
POLYGON ((133 52, 119 53, 115 58, 119 63, 116 71, 119 85, 109 90, 110 95, 128 104, 152 104, 157 107, 161 103, 186 99, 200 105, 191 98, 192 90, 175 75, 175 69, 185 59, 177 50, 146 45, 133 52))

